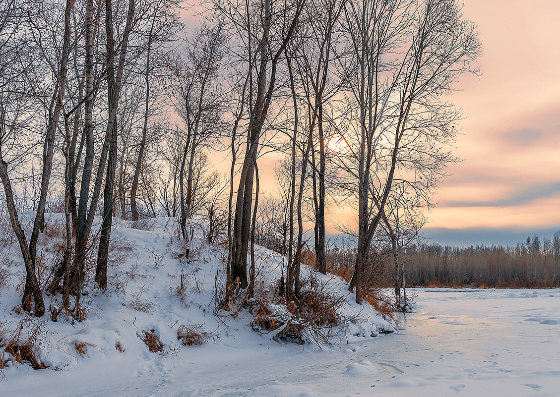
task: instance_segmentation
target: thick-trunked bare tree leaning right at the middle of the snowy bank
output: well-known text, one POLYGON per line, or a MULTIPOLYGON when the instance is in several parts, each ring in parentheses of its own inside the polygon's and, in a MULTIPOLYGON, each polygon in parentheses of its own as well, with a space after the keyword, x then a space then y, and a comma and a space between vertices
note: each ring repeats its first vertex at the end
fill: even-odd
POLYGON ((214 10, 225 18, 228 27, 231 28, 232 43, 239 44, 239 48, 232 52, 238 54, 236 62, 239 71, 242 76, 248 76, 249 81, 248 95, 243 96, 248 102, 245 106, 248 119, 247 146, 239 176, 231 246, 231 269, 228 269, 231 270, 228 280, 237 280, 242 288, 248 285, 247 254, 254 170, 259 142, 273 100, 278 66, 284 48, 291 40, 298 24, 304 4, 305 0, 275 4, 278 8, 273 10, 269 0, 265 0, 263 4, 229 0, 213 2, 214 10))

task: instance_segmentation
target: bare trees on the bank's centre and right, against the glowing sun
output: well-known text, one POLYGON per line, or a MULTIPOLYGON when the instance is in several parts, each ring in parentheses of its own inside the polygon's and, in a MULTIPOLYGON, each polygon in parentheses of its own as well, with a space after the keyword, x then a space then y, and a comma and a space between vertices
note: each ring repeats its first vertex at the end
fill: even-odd
POLYGON ((391 236, 396 280, 403 240, 418 233, 424 222, 419 209, 431 205, 446 164, 455 161, 447 148, 461 114, 446 95, 461 74, 477 73, 475 26, 455 1, 295 0, 273 9, 267 2, 216 0, 213 6, 235 43, 232 136, 246 137, 245 146, 231 146, 242 165, 230 207, 228 283, 248 285, 254 171, 259 151, 272 142, 259 139, 265 140, 263 132, 283 133, 287 139, 278 138, 277 147, 288 159, 288 194, 282 196, 283 222, 275 221, 287 225, 281 231, 286 296, 299 293, 306 214, 315 225, 316 265, 326 270, 330 195, 357 209, 357 230, 348 230, 357 241, 349 289, 356 289, 360 303, 376 236, 391 236))

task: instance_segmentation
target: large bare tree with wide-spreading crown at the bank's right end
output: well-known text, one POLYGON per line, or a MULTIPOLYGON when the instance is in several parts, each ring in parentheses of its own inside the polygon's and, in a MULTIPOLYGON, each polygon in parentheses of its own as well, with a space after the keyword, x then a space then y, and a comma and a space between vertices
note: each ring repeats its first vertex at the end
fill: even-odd
POLYGON ((452 0, 363 0, 345 8, 351 54, 347 66, 354 71, 350 81, 357 82, 349 85, 350 102, 360 110, 355 146, 348 144, 357 165, 352 174, 358 195, 358 247, 349 289, 356 287, 358 303, 362 269, 395 172, 441 175, 452 158, 440 148, 453 138, 459 114, 441 97, 461 73, 475 72, 471 64, 480 51, 475 27, 460 10, 452 0), (412 161, 407 161, 409 155, 412 161))

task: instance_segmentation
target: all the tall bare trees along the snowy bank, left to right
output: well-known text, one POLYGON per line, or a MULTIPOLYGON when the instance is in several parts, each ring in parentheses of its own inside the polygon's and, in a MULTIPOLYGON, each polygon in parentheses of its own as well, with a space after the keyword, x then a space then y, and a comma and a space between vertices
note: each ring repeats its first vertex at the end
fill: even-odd
POLYGON ((446 95, 477 72, 480 44, 460 2, 204 5, 187 31, 174 0, 2 3, 0 178, 26 268, 24 310, 44 313, 35 261, 48 205, 64 212, 66 248, 46 292, 62 291, 76 316, 87 277, 107 287, 115 216, 176 217, 187 240, 188 219, 204 217, 208 241, 222 232, 228 242, 226 291, 254 286, 255 241, 274 231, 292 300, 304 224, 324 273, 326 214, 344 200, 357 210, 347 228, 356 301, 381 235, 399 279, 400 251, 455 160, 446 147, 460 112, 446 95), (231 160, 225 177, 217 151, 231 160), (280 193, 259 198, 258 162, 270 152, 280 193), (29 239, 27 184, 37 186, 29 239))

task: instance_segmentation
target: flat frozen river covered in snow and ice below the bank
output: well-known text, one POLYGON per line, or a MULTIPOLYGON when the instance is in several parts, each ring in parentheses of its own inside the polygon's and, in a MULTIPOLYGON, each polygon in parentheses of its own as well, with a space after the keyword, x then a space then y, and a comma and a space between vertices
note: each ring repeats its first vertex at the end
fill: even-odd
POLYGON ((560 396, 560 289, 414 292, 399 334, 323 350, 223 338, 184 366, 36 371, 0 395, 560 396))

